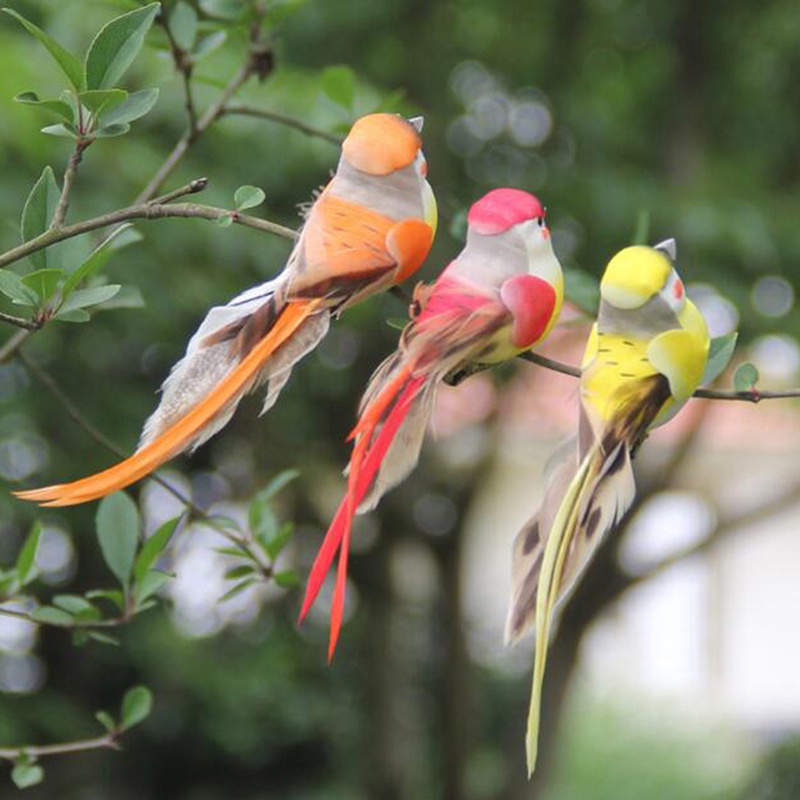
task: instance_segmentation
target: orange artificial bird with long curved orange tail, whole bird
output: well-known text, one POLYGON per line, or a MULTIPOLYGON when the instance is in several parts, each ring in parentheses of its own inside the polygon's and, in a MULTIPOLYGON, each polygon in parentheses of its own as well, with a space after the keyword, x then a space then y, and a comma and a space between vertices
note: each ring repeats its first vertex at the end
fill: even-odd
POLYGON ((248 392, 266 384, 267 411, 292 367, 325 336, 332 316, 414 273, 436 229, 425 180, 422 118, 370 114, 342 144, 336 173, 305 215, 277 278, 212 308, 164 382, 136 452, 73 483, 16 492, 68 506, 96 500, 194 449, 227 424, 248 392))

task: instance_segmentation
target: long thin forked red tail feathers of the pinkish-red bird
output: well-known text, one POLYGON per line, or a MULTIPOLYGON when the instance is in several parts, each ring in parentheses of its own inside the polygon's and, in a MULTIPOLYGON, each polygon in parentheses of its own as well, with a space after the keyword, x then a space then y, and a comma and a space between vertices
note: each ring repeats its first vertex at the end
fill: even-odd
POLYGON ((384 392, 379 395, 377 409, 374 406, 370 407, 356 426, 355 432, 358 434, 359 438, 350 459, 347 494, 342 498, 342 502, 328 528, 328 532, 325 535, 325 539, 317 553, 317 557, 314 560, 308 577, 303 607, 300 611, 301 622, 314 604, 322 588, 322 584, 325 581, 325 576, 328 574, 333 564, 336 552, 341 548, 339 566, 336 574, 336 586, 333 592, 333 604, 331 607, 331 632, 328 648, 329 660, 333 657, 334 650, 336 649, 336 642, 339 638, 339 631, 342 624, 345 586, 347 581, 347 559, 350 550, 350 529, 353 516, 369 491, 375 476, 378 474, 381 463, 394 441, 394 437, 397 435, 398 430, 400 430, 403 420, 406 418, 411 408, 411 404, 419 394, 419 389, 424 383, 424 378, 422 377, 408 379, 409 371, 410 370, 403 371, 403 373, 398 375, 397 378, 386 387, 384 392), (397 392, 401 387, 402 391, 400 391, 399 396, 397 396, 397 392), (386 416, 383 427, 373 440, 372 435, 378 425, 381 412, 391 405, 395 397, 397 399, 391 411, 386 416))

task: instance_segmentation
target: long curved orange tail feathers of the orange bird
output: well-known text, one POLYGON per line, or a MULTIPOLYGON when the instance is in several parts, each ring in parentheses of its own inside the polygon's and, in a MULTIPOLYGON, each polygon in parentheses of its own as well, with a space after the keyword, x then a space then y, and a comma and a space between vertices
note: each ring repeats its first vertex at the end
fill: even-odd
POLYGON ((264 362, 319 308, 320 301, 289 303, 264 338, 206 397, 178 422, 130 458, 96 475, 42 489, 14 492, 43 506, 71 506, 96 500, 138 481, 183 450, 225 406, 236 399, 264 362))

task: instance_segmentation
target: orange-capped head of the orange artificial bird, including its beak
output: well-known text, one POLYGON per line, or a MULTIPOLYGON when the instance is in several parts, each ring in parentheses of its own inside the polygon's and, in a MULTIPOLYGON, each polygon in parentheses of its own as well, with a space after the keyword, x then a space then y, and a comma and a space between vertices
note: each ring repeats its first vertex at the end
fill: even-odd
POLYGON ((422 118, 409 121, 397 114, 368 114, 356 120, 342 143, 345 159, 369 175, 389 175, 418 163, 424 178, 422 118))

